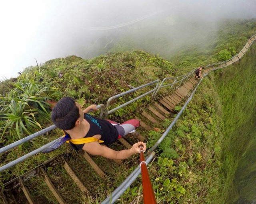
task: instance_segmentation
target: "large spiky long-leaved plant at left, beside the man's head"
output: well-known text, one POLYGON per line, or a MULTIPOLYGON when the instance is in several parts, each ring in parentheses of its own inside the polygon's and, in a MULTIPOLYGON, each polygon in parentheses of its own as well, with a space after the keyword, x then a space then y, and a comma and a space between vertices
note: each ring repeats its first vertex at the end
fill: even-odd
POLYGON ((51 83, 36 83, 42 78, 40 70, 32 69, 13 84, 14 88, 0 97, 0 114, 3 118, 1 140, 3 137, 21 139, 26 134, 41 129, 40 120, 50 121, 49 105, 46 101, 56 98, 60 93, 51 83))

